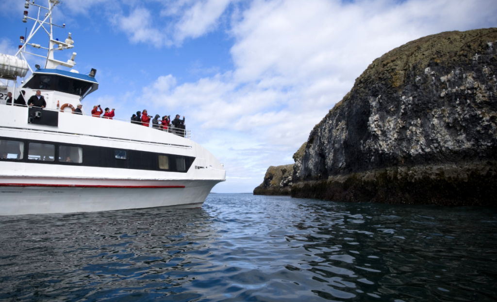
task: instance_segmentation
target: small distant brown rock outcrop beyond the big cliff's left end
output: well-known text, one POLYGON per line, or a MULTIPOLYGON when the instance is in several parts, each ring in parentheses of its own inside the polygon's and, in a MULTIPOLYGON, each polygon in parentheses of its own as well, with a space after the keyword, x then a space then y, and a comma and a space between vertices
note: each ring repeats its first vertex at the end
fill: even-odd
POLYGON ((290 195, 292 186, 293 164, 269 167, 264 181, 255 189, 254 195, 290 195))

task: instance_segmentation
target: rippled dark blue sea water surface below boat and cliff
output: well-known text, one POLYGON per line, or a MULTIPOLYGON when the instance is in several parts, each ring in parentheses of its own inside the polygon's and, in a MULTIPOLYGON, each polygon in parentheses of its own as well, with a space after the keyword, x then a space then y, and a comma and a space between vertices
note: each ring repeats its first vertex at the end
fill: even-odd
POLYGON ((497 209, 210 194, 0 217, 5 301, 496 301, 497 209))

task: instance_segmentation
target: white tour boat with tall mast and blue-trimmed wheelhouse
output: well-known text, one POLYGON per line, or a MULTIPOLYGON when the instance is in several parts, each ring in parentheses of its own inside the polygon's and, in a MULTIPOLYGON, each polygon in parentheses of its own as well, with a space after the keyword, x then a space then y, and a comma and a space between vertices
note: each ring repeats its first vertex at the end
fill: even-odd
MULTIPOLYGON (((26 0, 23 22, 34 20, 14 56, 0 54, 0 215, 93 212, 149 207, 201 207, 212 187, 226 179, 221 163, 190 140, 189 131, 175 135, 129 121, 75 114, 84 97, 98 88, 95 69, 88 75, 72 68, 76 53, 66 62, 54 52, 73 48, 54 40, 52 10, 26 0), (28 17, 29 7, 37 17, 28 17), (43 17, 43 18, 40 18, 43 17), (31 43, 40 32, 48 48, 31 43), (44 49, 47 56, 27 47, 44 49), (46 58, 36 69, 24 54, 46 58), (28 70, 31 75, 24 78, 28 70), (40 90, 45 108, 20 105, 40 90), (7 102, 7 93, 12 101, 7 102)), ((65 24, 63 26, 65 27, 65 24)), ((88 112, 89 113, 89 112, 88 112)))

